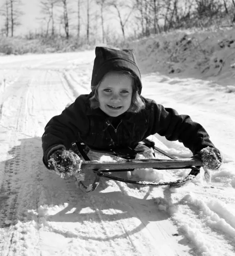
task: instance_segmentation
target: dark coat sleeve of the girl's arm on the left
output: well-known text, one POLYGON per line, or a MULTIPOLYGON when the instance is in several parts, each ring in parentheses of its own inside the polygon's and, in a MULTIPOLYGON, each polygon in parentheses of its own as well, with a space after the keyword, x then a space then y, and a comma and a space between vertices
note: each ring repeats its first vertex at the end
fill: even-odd
POLYGON ((48 167, 48 153, 56 149, 69 149, 72 142, 79 140, 80 133, 89 130, 89 120, 86 116, 86 104, 79 96, 73 104, 54 116, 45 126, 42 135, 43 162, 48 167))

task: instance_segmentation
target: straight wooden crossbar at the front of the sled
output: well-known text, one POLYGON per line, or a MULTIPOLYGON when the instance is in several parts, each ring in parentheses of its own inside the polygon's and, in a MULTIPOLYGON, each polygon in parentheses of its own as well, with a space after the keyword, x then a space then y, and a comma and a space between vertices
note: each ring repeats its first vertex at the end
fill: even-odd
POLYGON ((159 169, 180 169, 190 166, 202 166, 199 159, 140 159, 140 160, 120 160, 116 162, 100 162, 100 161, 83 161, 81 170, 122 170, 136 168, 159 168, 159 169))

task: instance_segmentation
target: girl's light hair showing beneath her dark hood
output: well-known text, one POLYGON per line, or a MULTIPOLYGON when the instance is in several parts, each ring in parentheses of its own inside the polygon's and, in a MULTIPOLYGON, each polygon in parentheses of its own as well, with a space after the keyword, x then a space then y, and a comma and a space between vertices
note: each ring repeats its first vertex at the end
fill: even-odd
MULTIPOLYGON (((145 108, 145 102, 142 100, 142 98, 139 95, 136 76, 127 70, 115 70, 114 72, 117 72, 123 75, 129 75, 133 78, 133 87, 132 87, 133 92, 132 92, 132 98, 131 98, 131 105, 130 105, 130 108, 128 108, 127 112, 132 112, 132 113, 140 112, 142 109, 145 108)), ((98 87, 101 81, 99 81, 97 85, 94 85, 91 87, 93 96, 90 98, 90 107, 93 109, 99 108, 98 87)))

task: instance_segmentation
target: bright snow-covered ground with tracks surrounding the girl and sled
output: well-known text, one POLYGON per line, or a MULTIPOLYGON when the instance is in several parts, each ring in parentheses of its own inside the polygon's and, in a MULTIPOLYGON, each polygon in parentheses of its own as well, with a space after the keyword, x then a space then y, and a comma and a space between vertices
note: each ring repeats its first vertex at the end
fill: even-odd
MULTIPOLYGON (((189 114, 223 152, 211 183, 202 170, 177 189, 102 178, 86 193, 73 178, 44 167, 44 126, 89 92, 93 58, 93 51, 1 56, 0 255, 234 256, 235 93, 215 81, 143 75, 144 96, 189 114)), ((171 154, 191 156, 181 143, 152 139, 171 154)), ((135 176, 157 181, 187 172, 136 170, 135 176)), ((92 173, 86 176, 89 183, 92 173)))

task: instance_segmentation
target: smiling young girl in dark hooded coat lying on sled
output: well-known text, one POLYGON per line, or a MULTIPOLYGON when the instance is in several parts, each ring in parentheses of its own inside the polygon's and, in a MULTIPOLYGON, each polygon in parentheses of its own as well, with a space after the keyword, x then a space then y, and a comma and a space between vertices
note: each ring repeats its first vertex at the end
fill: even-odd
POLYGON ((220 151, 202 125, 141 96, 141 76, 133 50, 96 47, 95 55, 91 93, 78 96, 45 127, 42 148, 48 169, 57 174, 76 173, 80 164, 72 150, 76 141, 93 150, 134 149, 155 133, 182 142, 201 158, 204 168, 220 167, 220 151))

